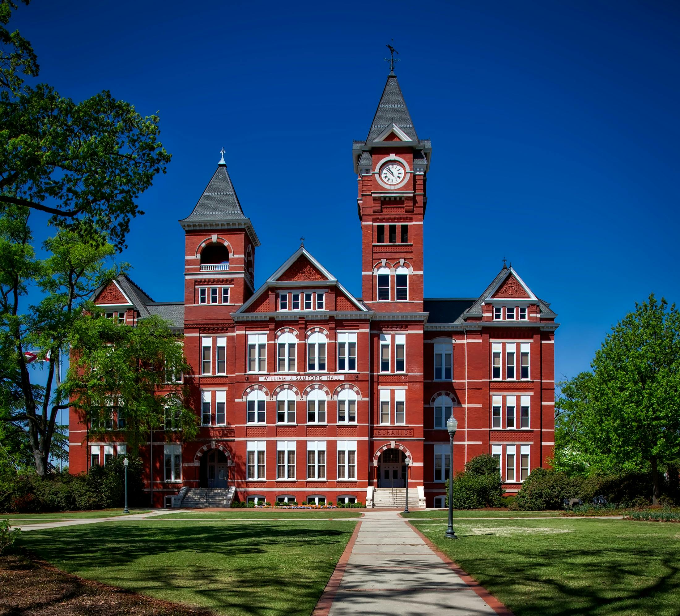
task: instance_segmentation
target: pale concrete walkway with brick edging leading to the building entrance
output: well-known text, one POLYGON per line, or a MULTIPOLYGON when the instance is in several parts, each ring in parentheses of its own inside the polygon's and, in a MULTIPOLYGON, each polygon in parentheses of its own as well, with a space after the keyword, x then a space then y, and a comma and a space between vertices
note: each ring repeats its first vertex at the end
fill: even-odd
POLYGON ((326 604, 331 599, 330 611, 318 606, 314 614, 498 613, 394 511, 369 510, 361 519, 342 579, 326 604))

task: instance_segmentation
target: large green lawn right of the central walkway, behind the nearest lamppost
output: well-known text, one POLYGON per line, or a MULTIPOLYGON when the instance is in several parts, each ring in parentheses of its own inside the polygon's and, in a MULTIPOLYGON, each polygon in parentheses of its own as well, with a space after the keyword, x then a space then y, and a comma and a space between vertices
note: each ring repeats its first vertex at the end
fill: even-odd
POLYGON ((516 616, 676 616, 680 525, 626 520, 445 521, 415 528, 516 616))

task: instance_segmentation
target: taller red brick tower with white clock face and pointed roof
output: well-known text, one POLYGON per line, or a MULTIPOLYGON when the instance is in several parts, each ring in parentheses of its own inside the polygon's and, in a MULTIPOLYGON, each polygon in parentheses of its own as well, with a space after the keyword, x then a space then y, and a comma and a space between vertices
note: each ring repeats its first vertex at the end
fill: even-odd
POLYGON ((364 141, 353 144, 362 229, 362 295, 377 312, 423 310, 423 218, 430 140, 390 71, 364 141))

